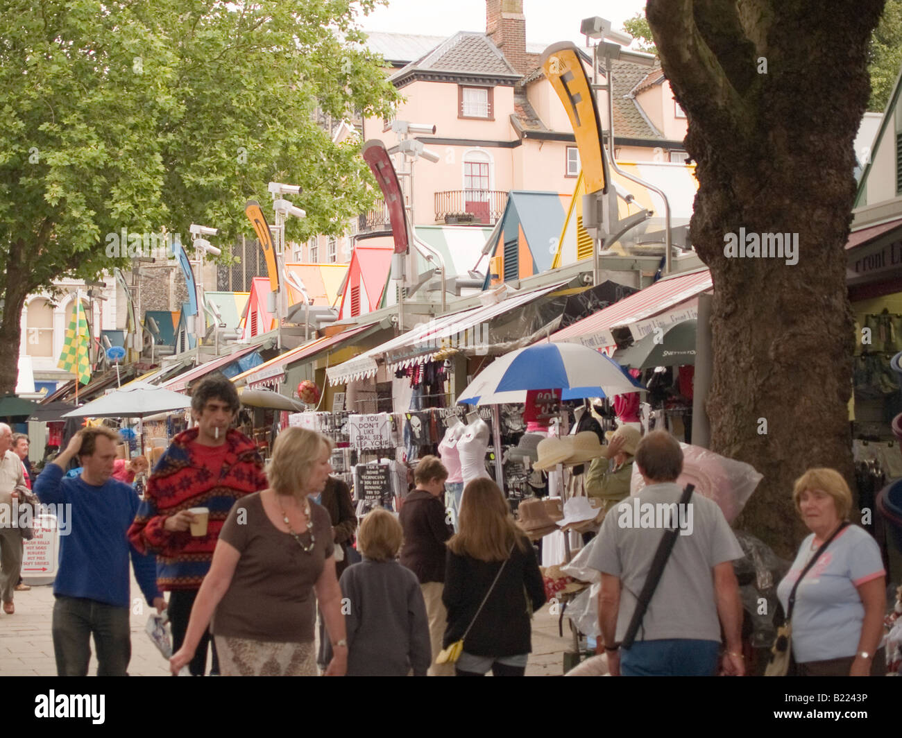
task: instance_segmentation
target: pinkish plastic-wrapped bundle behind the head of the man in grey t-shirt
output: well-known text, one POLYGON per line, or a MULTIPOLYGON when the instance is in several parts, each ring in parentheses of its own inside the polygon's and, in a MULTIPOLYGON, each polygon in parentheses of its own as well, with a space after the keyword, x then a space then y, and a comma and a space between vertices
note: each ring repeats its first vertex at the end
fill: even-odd
MULTIPOLYGON (((742 512, 764 475, 743 461, 722 457, 707 448, 681 443, 683 449, 683 474, 676 484, 685 487, 695 484, 695 492, 720 505, 727 522, 732 523, 742 512)), ((632 465, 630 494, 639 494, 645 482, 639 473, 639 465, 632 465)))

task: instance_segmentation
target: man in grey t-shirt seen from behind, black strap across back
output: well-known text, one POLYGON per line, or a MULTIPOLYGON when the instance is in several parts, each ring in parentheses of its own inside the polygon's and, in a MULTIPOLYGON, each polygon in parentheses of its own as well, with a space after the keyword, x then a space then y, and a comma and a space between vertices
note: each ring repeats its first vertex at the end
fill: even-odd
POLYGON ((676 477, 683 451, 676 438, 656 430, 642 439, 636 466, 645 488, 608 511, 593 541, 589 566, 602 572, 598 619, 613 676, 713 676, 721 643, 723 670, 741 676, 742 605, 732 560, 742 549, 720 507, 693 494, 679 508, 676 477), (620 641, 635 610, 664 530, 679 535, 651 597, 636 640, 620 641), (622 662, 621 662, 622 659, 622 662))

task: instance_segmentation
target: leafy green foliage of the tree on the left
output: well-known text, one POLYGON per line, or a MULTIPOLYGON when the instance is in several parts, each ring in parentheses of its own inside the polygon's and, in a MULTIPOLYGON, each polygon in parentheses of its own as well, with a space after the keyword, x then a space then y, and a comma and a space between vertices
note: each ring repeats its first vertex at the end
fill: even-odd
POLYGON ((270 180, 303 188, 289 237, 340 232, 372 203, 360 143, 318 118, 391 115, 357 24, 375 2, 3 0, 0 389, 29 292, 128 263, 107 234, 188 244, 195 222, 226 245, 253 235, 244 203, 266 207, 270 180))

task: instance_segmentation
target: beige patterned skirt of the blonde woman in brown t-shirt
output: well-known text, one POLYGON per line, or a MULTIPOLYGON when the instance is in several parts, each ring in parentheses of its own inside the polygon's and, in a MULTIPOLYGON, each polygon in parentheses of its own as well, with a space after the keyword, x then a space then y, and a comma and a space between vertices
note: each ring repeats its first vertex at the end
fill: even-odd
POLYGON ((316 677, 313 641, 281 643, 216 635, 219 671, 224 677, 316 677))

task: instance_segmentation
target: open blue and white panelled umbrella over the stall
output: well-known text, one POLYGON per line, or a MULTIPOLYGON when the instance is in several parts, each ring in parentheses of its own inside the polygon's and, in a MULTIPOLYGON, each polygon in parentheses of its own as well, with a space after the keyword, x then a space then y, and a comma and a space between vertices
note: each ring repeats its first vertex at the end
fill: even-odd
POLYGON ((489 364, 457 398, 469 405, 524 402, 529 390, 561 390, 562 399, 644 392, 617 362, 581 344, 543 343, 489 364))

